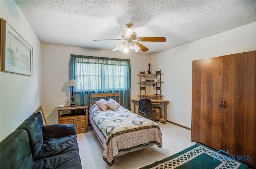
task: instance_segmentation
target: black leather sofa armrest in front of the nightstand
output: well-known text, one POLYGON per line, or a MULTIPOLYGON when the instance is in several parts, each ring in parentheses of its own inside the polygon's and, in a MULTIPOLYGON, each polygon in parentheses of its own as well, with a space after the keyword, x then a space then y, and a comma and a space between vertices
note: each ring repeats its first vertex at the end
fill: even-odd
POLYGON ((42 132, 44 139, 60 138, 68 135, 76 135, 76 126, 74 124, 44 125, 42 132))

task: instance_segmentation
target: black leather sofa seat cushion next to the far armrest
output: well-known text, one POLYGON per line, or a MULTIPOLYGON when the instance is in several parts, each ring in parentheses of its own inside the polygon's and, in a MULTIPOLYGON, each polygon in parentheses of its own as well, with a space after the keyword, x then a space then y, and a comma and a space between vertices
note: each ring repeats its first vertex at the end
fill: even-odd
POLYGON ((52 157, 68 151, 79 151, 76 135, 61 138, 48 138, 43 141, 37 159, 52 157))

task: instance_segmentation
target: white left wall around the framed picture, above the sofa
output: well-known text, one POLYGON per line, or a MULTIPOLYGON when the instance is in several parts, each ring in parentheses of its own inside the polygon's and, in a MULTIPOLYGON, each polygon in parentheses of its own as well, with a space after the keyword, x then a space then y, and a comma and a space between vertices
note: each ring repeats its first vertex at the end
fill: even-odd
POLYGON ((33 47, 33 76, 0 73, 0 140, 12 133, 41 103, 41 43, 13 0, 1 0, 0 16, 33 47))

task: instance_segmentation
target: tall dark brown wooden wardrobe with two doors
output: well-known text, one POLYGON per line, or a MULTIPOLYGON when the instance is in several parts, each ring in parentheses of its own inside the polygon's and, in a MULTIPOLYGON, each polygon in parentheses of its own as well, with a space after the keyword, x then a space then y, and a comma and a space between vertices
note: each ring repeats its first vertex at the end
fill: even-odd
POLYGON ((256 51, 195 60, 192 70, 192 141, 256 167, 256 51))

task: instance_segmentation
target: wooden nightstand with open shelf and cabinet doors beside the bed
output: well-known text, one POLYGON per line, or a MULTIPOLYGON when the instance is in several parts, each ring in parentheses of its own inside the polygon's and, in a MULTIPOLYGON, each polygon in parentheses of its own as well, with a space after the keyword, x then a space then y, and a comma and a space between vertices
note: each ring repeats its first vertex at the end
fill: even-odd
POLYGON ((75 124, 76 133, 88 132, 88 106, 77 105, 75 107, 58 107, 58 123, 59 124, 75 124), (84 109, 84 113, 60 114, 60 111, 84 109))

